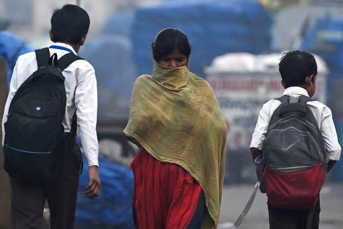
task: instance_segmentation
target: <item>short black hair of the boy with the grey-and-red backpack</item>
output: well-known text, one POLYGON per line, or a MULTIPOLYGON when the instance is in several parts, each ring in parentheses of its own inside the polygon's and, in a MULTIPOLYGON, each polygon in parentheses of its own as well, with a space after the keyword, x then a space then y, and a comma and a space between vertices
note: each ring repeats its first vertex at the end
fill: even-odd
MULTIPOLYGON (((287 87, 304 85, 307 76, 317 75, 317 62, 315 57, 306 51, 285 52, 279 63, 279 72, 287 87)), ((315 77, 312 82, 314 79, 315 77)))

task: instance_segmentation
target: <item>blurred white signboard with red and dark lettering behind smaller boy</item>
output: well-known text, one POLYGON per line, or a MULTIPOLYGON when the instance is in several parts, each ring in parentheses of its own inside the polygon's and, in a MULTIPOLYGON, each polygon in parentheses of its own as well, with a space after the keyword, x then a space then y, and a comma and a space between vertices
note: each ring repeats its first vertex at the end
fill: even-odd
MULTIPOLYGON (((213 88, 226 120, 227 149, 248 149, 263 104, 283 94, 280 73, 218 72, 209 68, 206 80, 213 88)), ((317 75, 314 98, 325 103, 324 74, 317 75)))

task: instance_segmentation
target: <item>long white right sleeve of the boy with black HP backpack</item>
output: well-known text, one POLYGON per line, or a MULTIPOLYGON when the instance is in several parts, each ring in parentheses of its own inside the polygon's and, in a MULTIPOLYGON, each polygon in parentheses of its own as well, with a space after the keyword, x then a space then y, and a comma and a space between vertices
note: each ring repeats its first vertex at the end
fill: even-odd
POLYGON ((88 65, 80 72, 75 89, 75 107, 78 130, 88 166, 98 164, 98 140, 96 135, 97 87, 95 71, 88 65))

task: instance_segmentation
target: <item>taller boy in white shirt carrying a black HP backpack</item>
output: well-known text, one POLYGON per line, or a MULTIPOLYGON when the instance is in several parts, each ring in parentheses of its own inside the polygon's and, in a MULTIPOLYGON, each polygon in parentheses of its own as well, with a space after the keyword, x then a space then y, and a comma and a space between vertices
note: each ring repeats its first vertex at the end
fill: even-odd
POLYGON ((51 229, 74 227, 82 172, 76 127, 89 166, 85 197, 99 195, 95 72, 76 55, 89 25, 87 12, 76 5, 55 10, 49 31, 54 43, 20 56, 14 67, 2 120, 12 229, 40 228, 46 200, 51 229))

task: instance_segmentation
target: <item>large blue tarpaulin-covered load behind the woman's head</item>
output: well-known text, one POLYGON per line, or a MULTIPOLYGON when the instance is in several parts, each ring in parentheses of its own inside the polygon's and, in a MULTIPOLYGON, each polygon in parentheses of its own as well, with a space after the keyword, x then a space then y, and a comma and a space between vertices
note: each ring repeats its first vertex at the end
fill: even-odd
POLYGON ((151 43, 164 28, 186 33, 193 48, 190 70, 204 77, 203 68, 216 56, 269 51, 271 26, 271 16, 257 1, 182 0, 139 8, 131 31, 138 73, 152 74, 151 43))

